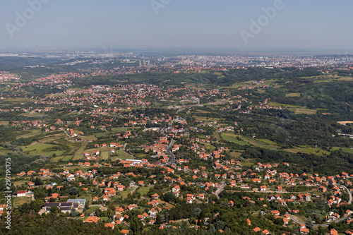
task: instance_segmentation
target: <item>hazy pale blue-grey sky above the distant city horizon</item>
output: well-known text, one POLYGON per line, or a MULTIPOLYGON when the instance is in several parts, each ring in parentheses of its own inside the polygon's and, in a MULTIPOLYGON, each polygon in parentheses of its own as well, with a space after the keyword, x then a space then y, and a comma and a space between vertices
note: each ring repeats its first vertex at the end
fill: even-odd
POLYGON ((263 18, 276 1, 0 0, 0 48, 353 49, 353 1, 282 0, 263 18), (47 3, 36 12, 35 1, 47 3), (16 20, 23 16, 26 23, 16 20))

